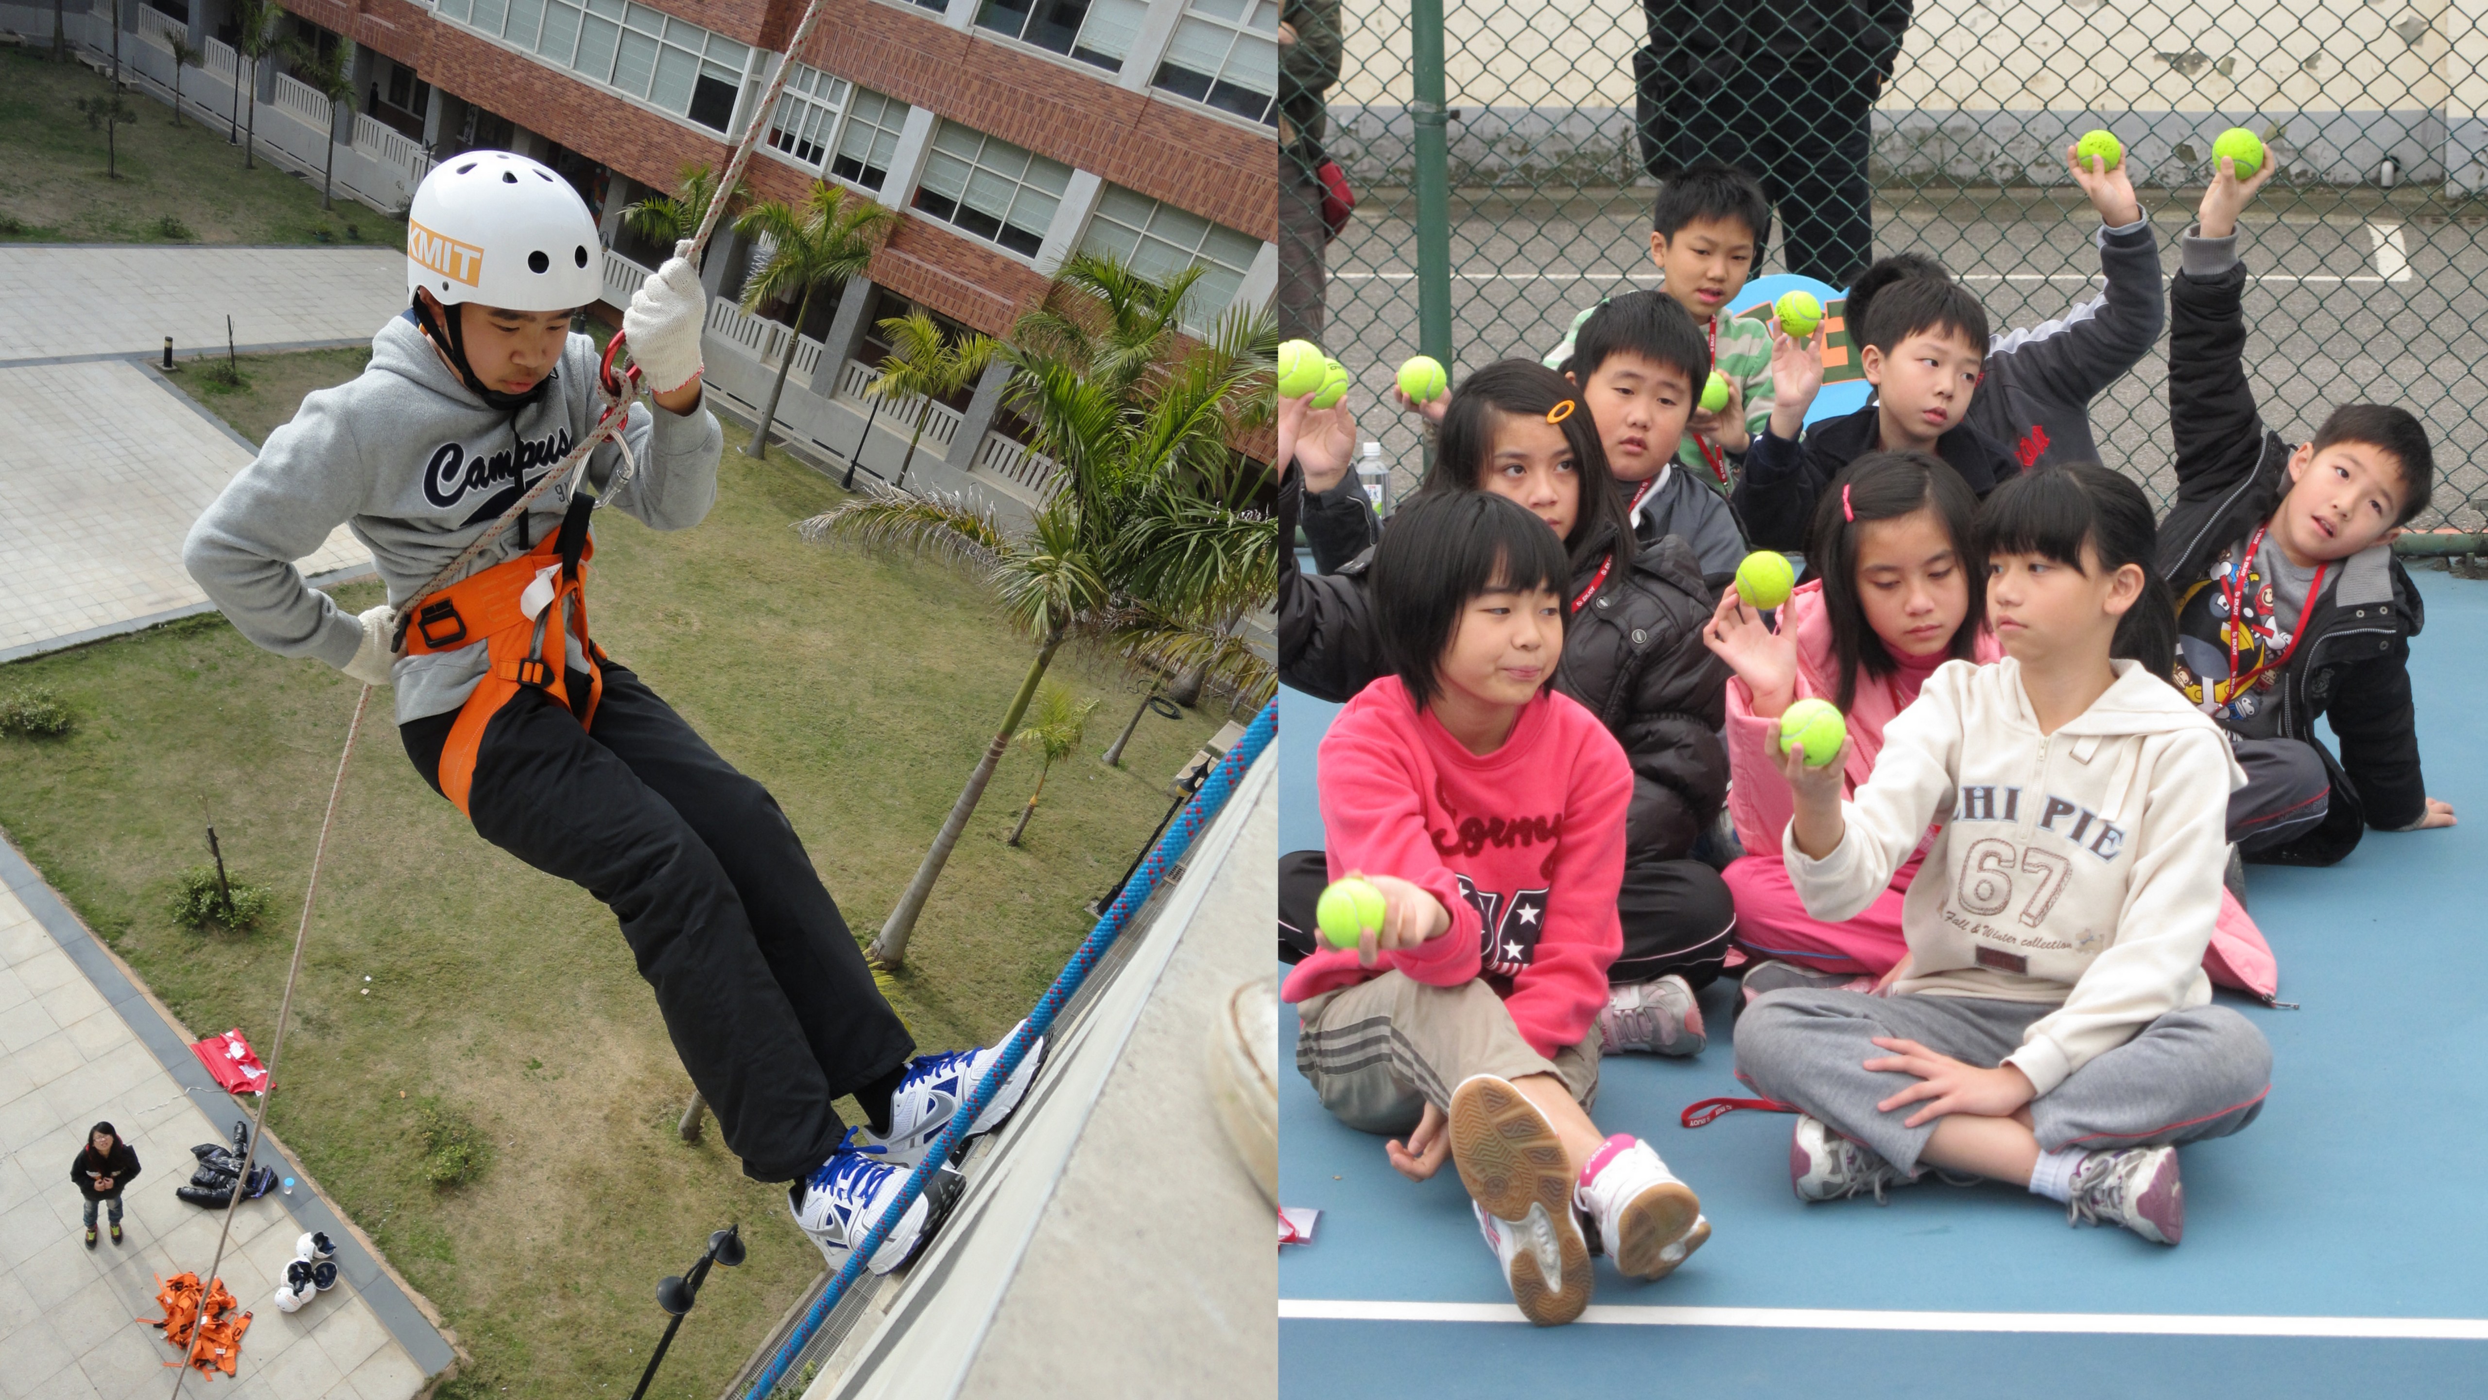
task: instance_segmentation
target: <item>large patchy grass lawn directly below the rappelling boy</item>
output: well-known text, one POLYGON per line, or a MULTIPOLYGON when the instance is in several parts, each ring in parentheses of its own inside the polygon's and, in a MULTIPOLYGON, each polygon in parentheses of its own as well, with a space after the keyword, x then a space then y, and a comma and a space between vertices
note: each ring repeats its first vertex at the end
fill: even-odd
MULTIPOLYGON (((940 565, 801 543, 794 521, 833 506, 836 486, 751 463, 726 436, 699 528, 600 521, 592 618, 615 658, 769 785, 868 937, 1033 645, 940 565)), ((371 583, 338 590, 348 610, 373 600, 371 583)), ((893 981, 921 1046, 985 1041, 1025 1014, 1087 932, 1082 902, 1224 720, 1149 717, 1127 767, 1107 770, 1095 755, 1137 680, 1077 655, 1055 675, 1107 702, 1025 847, 1003 837, 1035 760, 1013 752, 988 790, 893 981)), ((194 1034, 241 1026, 269 1046, 353 683, 209 615, 0 668, 0 693, 30 685, 60 693, 77 730, 0 740, 0 827, 194 1034), (167 914, 174 877, 207 859, 202 810, 234 872, 276 887, 259 932, 199 934, 167 914)), ((376 693, 271 1121, 475 1355, 443 1395, 627 1395, 664 1323, 657 1278, 741 1221, 749 1263, 709 1280, 654 1388, 712 1400, 819 1273, 784 1196, 744 1181, 714 1128, 674 1138, 689 1089, 612 914, 475 837, 415 777, 376 693), (490 1143, 478 1181, 425 1183, 428 1104, 490 1143)))

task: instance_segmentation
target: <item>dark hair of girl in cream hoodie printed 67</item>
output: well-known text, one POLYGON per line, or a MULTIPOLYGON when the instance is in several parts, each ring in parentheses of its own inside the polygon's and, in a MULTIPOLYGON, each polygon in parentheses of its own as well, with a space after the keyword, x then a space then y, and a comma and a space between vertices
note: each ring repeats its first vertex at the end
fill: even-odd
POLYGON ((2100 568, 2127 563, 2142 570, 2142 595, 2117 620, 2107 655, 2140 660, 2160 680, 2177 668, 2177 598, 2160 575, 2160 528, 2152 501, 2125 476, 2095 461, 2025 471, 1978 506, 1978 556, 2035 553, 2090 573, 2085 546, 2100 568))

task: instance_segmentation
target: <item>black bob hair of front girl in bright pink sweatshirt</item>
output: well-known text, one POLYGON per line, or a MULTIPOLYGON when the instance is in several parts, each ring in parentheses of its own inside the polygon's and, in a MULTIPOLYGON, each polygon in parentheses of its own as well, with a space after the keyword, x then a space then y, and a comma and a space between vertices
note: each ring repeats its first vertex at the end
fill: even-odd
MULTIPOLYGON (((1545 588, 1562 598, 1570 575, 1562 543, 1545 521, 1485 491, 1418 491, 1391 513, 1373 546, 1368 588, 1383 665, 1423 710, 1441 690, 1436 668, 1480 593, 1545 588)), ((1562 618, 1565 608, 1555 608, 1562 618)), ((1548 653, 1548 685, 1555 658, 1548 653)))

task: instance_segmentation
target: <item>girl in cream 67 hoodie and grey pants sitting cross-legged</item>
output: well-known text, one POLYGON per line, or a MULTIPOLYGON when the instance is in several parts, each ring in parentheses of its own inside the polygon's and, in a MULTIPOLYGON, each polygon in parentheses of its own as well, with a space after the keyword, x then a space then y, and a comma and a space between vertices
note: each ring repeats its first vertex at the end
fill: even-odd
POLYGON ((2177 1143, 2244 1128, 2272 1084, 2262 1031, 2202 972, 2244 775, 2155 675, 2172 610, 2140 486, 2045 468, 2000 486, 1978 533, 2005 660, 1936 668, 1849 802, 1839 762, 1789 745, 1781 767, 1789 882, 1819 919, 1883 897, 1936 812, 1908 957, 1886 996, 1754 999, 1737 1074, 1801 1111, 1804 1201, 1881 1198, 1933 1166, 2172 1246, 2177 1143))

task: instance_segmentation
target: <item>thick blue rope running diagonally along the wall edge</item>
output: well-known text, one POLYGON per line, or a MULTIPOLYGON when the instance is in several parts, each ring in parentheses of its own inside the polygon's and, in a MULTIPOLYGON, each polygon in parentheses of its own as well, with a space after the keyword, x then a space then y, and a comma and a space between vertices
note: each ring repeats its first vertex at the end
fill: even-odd
POLYGON ((824 1320, 829 1320, 831 1308, 846 1298, 846 1290, 856 1285, 863 1275, 863 1265, 876 1251, 881 1251, 881 1243, 891 1238, 891 1231, 901 1218, 906 1218, 908 1208, 916 1206, 916 1198, 933 1181, 933 1173, 940 1171, 943 1163, 950 1161, 950 1153, 958 1151, 960 1138, 968 1133, 968 1123, 985 1111, 985 1104, 993 1101, 1003 1084, 1010 1084, 1020 1061, 1028 1059, 1028 1049, 1055 1026, 1055 1016, 1062 1014, 1062 1006, 1075 991, 1080 991, 1080 984, 1087 981, 1090 969, 1097 967, 1105 949, 1115 947, 1115 937, 1122 934, 1122 927, 1140 912, 1142 904, 1149 902, 1149 894, 1154 894, 1157 884, 1169 869, 1174 869, 1174 862, 1184 859, 1184 852, 1192 849, 1192 837, 1219 815, 1227 805, 1227 795, 1234 792, 1237 782, 1244 780, 1244 772, 1251 770, 1254 760, 1261 757, 1261 750, 1269 747, 1271 735, 1276 732, 1279 702, 1271 700, 1259 715, 1254 715, 1251 727, 1244 730, 1237 747, 1227 750, 1227 757, 1209 770, 1209 777, 1202 782, 1192 805, 1184 807, 1184 815, 1174 820, 1164 837, 1159 837, 1159 842, 1149 849, 1149 859, 1144 859, 1140 872, 1125 882, 1115 904, 1102 919, 1097 919, 1097 927, 1090 929, 1090 937, 1077 952, 1072 952, 1072 959, 1062 964, 1055 984, 1045 989, 1045 996, 1037 999, 1037 1006, 1025 1021, 1020 1021, 1020 1029, 1003 1046, 1003 1059, 998 1059, 985 1071, 985 1079, 975 1084, 975 1094, 968 1094, 968 1101, 950 1114, 950 1123, 940 1131, 940 1138, 926 1148, 923 1161, 908 1173, 891 1206, 878 1221, 873 1221, 873 1228, 866 1231, 863 1241, 846 1251, 846 1263, 838 1265, 838 1275, 831 1278, 829 1288, 821 1290, 821 1298, 804 1310, 804 1318, 791 1333, 786 1333, 786 1343, 769 1358, 769 1365, 751 1378, 751 1388, 744 1393, 744 1400, 766 1400, 771 1388, 776 1388, 776 1383, 794 1368, 796 1355, 804 1353, 811 1335, 821 1330, 824 1320))

